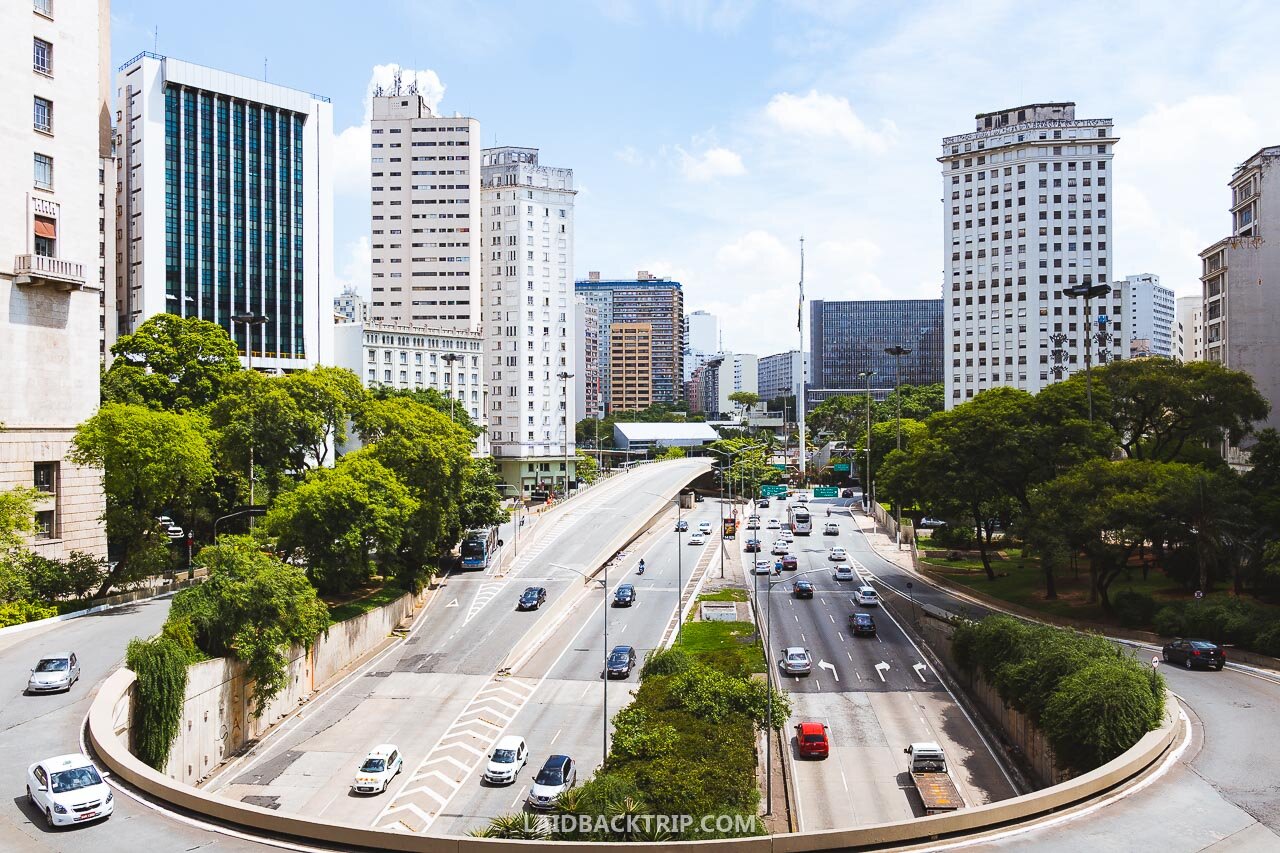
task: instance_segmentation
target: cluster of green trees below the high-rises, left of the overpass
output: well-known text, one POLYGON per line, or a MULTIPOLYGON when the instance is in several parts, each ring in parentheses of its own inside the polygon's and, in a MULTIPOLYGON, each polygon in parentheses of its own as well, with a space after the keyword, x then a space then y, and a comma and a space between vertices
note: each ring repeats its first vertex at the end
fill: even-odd
POLYGON ((465 529, 504 517, 492 460, 471 456, 479 429, 434 389, 366 391, 339 368, 244 370, 221 327, 168 314, 111 352, 104 405, 72 453, 104 471, 116 562, 97 596, 170 567, 159 516, 211 542, 215 520, 250 505, 250 459, 264 546, 321 593, 374 574, 417 589, 465 529), (335 459, 352 437, 362 447, 335 459))

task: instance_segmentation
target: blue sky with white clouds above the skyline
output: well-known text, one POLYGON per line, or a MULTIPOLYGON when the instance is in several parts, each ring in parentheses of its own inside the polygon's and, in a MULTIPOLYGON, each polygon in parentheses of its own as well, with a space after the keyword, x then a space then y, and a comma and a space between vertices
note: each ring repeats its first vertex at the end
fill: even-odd
POLYGON ((943 136, 977 113, 1074 101, 1107 117, 1111 255, 1199 292, 1228 181, 1280 143, 1280 5, 876 0, 115 0, 143 50, 334 105, 334 270, 369 291, 369 111, 393 68, 484 145, 573 169, 575 275, 684 284, 724 348, 797 346, 805 296, 941 296, 943 136))

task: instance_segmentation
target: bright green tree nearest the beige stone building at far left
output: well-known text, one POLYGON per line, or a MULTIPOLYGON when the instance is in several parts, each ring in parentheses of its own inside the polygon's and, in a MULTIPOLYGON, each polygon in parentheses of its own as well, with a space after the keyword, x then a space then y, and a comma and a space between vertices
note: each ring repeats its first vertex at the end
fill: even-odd
POLYGON ((157 516, 214 475, 204 418, 108 403, 76 430, 69 459, 104 473, 106 535, 119 561, 96 597, 163 571, 169 540, 157 516))

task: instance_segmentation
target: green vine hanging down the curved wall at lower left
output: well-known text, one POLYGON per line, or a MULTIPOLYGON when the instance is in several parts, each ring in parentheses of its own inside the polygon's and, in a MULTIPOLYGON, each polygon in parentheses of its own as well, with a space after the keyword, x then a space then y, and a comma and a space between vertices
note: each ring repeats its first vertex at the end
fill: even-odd
POLYGON ((189 654, 166 637, 134 638, 129 640, 124 662, 138 678, 132 713, 133 752, 164 772, 169 749, 182 726, 189 654))

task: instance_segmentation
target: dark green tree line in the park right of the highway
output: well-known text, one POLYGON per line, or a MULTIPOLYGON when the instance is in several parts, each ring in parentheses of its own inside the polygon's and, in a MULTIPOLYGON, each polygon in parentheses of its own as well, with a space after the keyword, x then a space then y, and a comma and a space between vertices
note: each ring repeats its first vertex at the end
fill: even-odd
POLYGON ((1039 557, 1046 598, 1074 561, 1091 601, 1158 565, 1188 590, 1280 593, 1280 435, 1261 430, 1239 474, 1219 448, 1266 416, 1252 379, 1215 362, 1115 361, 1033 396, 993 388, 929 415, 877 474, 881 494, 978 530, 987 575, 996 528, 1039 557))

